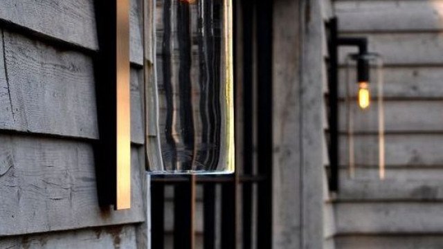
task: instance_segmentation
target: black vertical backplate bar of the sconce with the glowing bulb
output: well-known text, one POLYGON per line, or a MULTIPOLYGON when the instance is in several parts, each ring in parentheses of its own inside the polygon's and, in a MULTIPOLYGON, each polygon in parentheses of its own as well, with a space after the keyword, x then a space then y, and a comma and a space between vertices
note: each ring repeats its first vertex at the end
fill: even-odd
POLYGON ((338 44, 337 19, 329 21, 329 190, 338 191, 338 44))

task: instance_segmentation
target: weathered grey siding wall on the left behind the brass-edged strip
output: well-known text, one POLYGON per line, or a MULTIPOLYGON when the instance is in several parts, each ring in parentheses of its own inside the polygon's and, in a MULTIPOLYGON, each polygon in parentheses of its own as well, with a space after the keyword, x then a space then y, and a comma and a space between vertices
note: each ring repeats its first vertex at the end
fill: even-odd
POLYGON ((132 209, 114 211, 96 191, 93 1, 0 1, 0 248, 136 248, 136 237, 147 248, 141 3, 130 15, 132 209), (104 227, 117 224, 128 225, 104 227))

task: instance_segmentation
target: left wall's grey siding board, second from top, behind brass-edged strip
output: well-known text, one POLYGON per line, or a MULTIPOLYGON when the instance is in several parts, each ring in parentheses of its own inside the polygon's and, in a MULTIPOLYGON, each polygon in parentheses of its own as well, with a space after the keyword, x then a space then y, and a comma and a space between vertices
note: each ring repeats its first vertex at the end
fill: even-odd
MULTIPOLYGON (((6 30, 2 40, 0 129, 98 139, 91 57, 6 30)), ((141 70, 132 69, 132 141, 138 144, 144 141, 141 86, 141 70)))

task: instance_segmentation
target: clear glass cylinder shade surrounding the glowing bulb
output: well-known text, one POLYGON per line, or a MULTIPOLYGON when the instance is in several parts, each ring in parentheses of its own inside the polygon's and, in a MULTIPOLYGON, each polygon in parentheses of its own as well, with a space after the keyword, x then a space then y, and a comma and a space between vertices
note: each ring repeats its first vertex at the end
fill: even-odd
POLYGON ((345 133, 351 178, 386 177, 383 63, 377 54, 350 54, 345 62, 345 133), (363 76, 362 76, 363 75, 363 76))

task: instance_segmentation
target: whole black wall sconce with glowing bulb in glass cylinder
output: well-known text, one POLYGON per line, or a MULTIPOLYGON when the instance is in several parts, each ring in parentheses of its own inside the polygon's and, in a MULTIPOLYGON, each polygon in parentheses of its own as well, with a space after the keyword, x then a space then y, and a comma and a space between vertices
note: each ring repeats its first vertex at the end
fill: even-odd
MULTIPOLYGON (((340 145, 347 138, 345 155, 351 178, 370 176, 377 172, 385 178, 383 73, 381 57, 368 53, 368 41, 363 37, 338 37, 337 20, 327 23, 329 50, 329 189, 338 190, 340 145), (345 58, 345 85, 339 87, 338 48, 354 46, 358 53, 345 58), (372 73, 374 72, 374 73, 372 73), (343 89, 343 91, 340 91, 343 89), (344 93, 344 94, 343 94, 344 93), (345 115, 340 116, 340 111, 345 115), (340 125, 338 118, 345 124, 340 125), (357 172, 356 169, 359 169, 357 172), (377 169, 377 170, 374 170, 377 169)), ((343 149, 343 148, 342 148, 343 149)), ((343 154, 343 153, 342 153, 343 154)))

